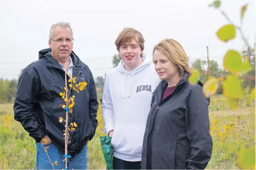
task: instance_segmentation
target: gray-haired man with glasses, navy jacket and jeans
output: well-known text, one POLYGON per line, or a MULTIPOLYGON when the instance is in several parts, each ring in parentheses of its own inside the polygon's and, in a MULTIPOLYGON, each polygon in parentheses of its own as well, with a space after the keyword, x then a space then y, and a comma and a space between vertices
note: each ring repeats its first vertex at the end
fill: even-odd
MULTIPOLYGON (((39 60, 23 69, 14 102, 14 119, 19 121, 36 142, 36 169, 64 169, 68 157, 68 169, 87 169, 87 142, 95 134, 98 101, 93 75, 73 50, 73 32, 69 23, 53 24, 49 34, 49 47, 39 51, 39 60), (69 114, 70 123, 76 123, 69 131, 68 155, 65 155, 66 110, 59 93, 67 79, 76 77, 76 83, 86 81, 87 85, 75 96, 75 105, 69 114), (47 152, 45 151, 47 150, 47 152)), ((69 98, 70 98, 69 96, 69 98)))

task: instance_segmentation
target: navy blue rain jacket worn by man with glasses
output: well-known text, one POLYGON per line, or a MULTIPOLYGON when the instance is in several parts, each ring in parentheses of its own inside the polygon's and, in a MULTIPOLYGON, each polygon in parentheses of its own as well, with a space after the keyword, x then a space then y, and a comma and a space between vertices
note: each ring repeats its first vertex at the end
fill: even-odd
MULTIPOLYGON (((50 48, 39 51, 39 60, 23 69, 13 106, 14 119, 36 142, 47 135, 59 149, 64 150, 65 122, 60 123, 59 117, 65 119, 66 111, 59 106, 65 103, 59 93, 63 92, 61 87, 64 89, 65 86, 65 72, 49 52, 50 48)), ((70 96, 75 96, 75 105, 69 116, 69 125, 74 122, 77 125, 76 130, 69 131, 71 143, 68 152, 72 155, 80 153, 86 142, 93 138, 98 125, 96 116, 99 103, 90 69, 73 51, 70 57, 76 83, 88 83, 79 94, 74 90, 70 92, 70 96)))

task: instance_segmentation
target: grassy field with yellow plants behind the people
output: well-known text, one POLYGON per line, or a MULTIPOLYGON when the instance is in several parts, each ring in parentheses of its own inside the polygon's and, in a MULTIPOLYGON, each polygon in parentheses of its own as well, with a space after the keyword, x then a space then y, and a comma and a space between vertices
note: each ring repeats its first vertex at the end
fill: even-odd
MULTIPOLYGON (((255 146, 255 102, 230 110, 223 96, 211 98, 210 131, 214 141, 207 169, 238 169, 237 154, 245 144, 255 146)), ((101 106, 99 125, 88 143, 88 169, 106 169, 99 136, 105 136, 101 106)), ((35 169, 35 142, 13 119, 12 104, 0 104, 0 169, 35 169)))

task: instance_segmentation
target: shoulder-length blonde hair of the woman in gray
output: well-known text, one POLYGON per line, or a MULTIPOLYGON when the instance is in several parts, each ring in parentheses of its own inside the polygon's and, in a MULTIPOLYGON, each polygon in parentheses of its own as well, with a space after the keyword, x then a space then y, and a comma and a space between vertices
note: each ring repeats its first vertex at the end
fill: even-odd
POLYGON ((172 63, 178 66, 179 75, 182 77, 184 72, 191 75, 193 69, 188 64, 188 58, 183 47, 176 40, 165 39, 155 45, 153 50, 153 56, 155 51, 160 51, 165 57, 167 57, 172 63))

